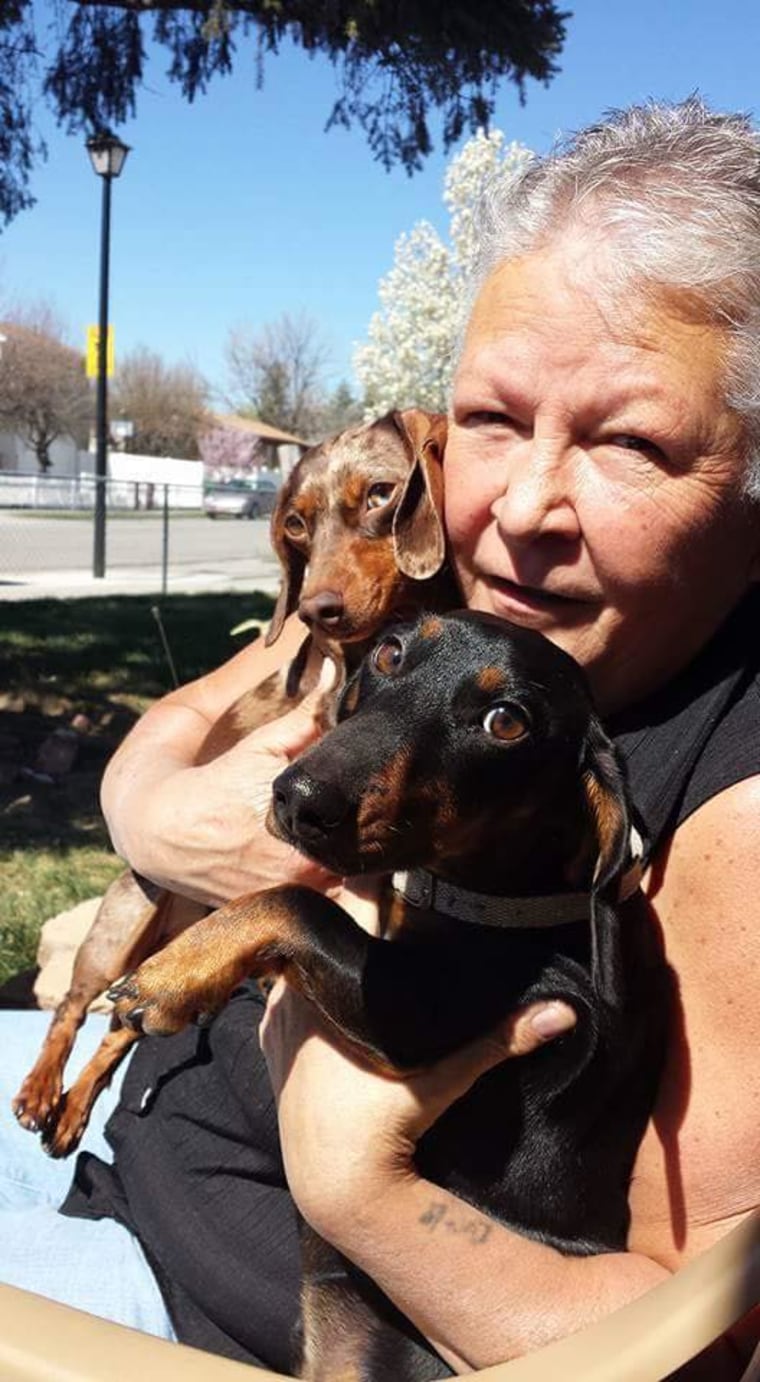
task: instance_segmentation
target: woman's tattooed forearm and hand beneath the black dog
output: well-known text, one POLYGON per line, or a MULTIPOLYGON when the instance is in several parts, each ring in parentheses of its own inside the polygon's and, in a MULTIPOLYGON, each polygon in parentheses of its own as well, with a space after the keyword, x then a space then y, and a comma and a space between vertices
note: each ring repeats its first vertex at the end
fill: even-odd
POLYGON ((636 1253, 565 1258, 413 1166, 417 1139, 449 1103, 506 1056, 526 1054, 572 1020, 561 1003, 549 1013, 525 1009, 499 1036, 402 1083, 361 1070, 330 1045, 298 995, 278 987, 267 1010, 263 1046, 296 1204, 457 1372, 561 1338, 667 1276, 636 1253))

